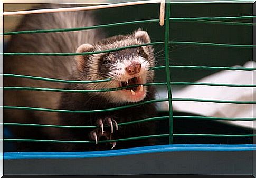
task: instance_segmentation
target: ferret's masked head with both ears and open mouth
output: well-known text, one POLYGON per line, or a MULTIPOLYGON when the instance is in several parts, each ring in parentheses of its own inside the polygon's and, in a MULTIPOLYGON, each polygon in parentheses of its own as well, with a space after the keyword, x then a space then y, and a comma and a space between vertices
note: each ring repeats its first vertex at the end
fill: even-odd
MULTIPOLYGON (((110 50, 131 45, 141 45, 150 43, 150 38, 145 31, 135 31, 128 35, 113 36, 96 44, 82 44, 78 47, 77 53, 110 50)), ((126 48, 124 50, 76 56, 79 76, 83 80, 102 80, 111 78, 109 82, 87 84, 89 90, 103 88, 117 88, 130 85, 138 87, 123 90, 91 93, 101 95, 113 103, 138 102, 147 95, 147 86, 141 84, 153 81, 154 71, 149 71, 155 66, 153 48, 151 46, 141 46, 126 48)))

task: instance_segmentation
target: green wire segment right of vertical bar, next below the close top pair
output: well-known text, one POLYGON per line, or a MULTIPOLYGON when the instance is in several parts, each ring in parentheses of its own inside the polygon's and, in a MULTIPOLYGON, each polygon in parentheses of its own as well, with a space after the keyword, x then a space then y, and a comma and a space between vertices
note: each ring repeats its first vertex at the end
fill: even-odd
POLYGON ((252 47, 256 47, 256 45, 237 45, 237 44, 203 43, 203 42, 181 42, 181 41, 170 41, 169 44, 200 45, 200 46, 218 46, 218 47, 240 47, 240 48, 252 48, 252 47))

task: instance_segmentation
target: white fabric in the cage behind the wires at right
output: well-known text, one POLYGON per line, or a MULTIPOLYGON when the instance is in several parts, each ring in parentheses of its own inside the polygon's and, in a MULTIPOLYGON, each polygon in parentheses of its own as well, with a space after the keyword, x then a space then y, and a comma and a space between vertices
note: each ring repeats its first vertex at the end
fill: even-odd
MULTIPOLYGON (((243 67, 256 66, 256 62, 249 61, 243 67)), ((233 66, 241 67, 241 66, 233 66)), ((253 74, 256 71, 220 71, 207 76, 196 82, 221 83, 221 84, 253 84, 253 74)), ((256 81, 254 80, 254 84, 256 81)), ((228 101, 254 101, 256 88, 252 87, 223 87, 223 86, 199 86, 189 85, 182 90, 173 92, 173 98, 201 98, 209 100, 228 100, 228 101)), ((168 102, 163 103, 164 108, 168 108, 168 102)), ((255 108, 254 104, 254 108, 255 108)), ((185 102, 173 101, 175 111, 189 112, 203 116, 212 117, 253 117, 253 104, 224 104, 207 102, 185 102)), ((254 114, 254 117, 256 115, 254 114)), ((243 127, 253 127, 253 121, 222 121, 243 127)), ((256 122, 254 121, 256 124, 256 122)))

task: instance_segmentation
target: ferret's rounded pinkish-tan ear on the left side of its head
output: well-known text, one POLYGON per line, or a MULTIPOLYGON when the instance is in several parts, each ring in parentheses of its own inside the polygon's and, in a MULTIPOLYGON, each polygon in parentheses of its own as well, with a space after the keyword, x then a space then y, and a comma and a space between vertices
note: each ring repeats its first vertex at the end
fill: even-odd
MULTIPOLYGON (((77 48, 77 53, 85 53, 85 52, 92 52, 93 51, 93 46, 88 43, 84 43, 81 46, 77 48)), ((77 68, 79 71, 83 71, 83 68, 86 64, 86 58, 88 56, 75 56, 75 61, 77 62, 77 68)))

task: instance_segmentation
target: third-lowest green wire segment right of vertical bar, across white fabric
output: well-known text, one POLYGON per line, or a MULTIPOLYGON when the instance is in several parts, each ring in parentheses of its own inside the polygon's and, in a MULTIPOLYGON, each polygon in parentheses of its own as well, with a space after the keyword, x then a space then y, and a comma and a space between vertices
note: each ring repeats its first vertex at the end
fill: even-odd
POLYGON ((228 104, 256 104, 256 101, 224 101, 224 100, 204 100, 195 98, 173 98, 173 101, 195 101, 210 103, 228 103, 228 104))

